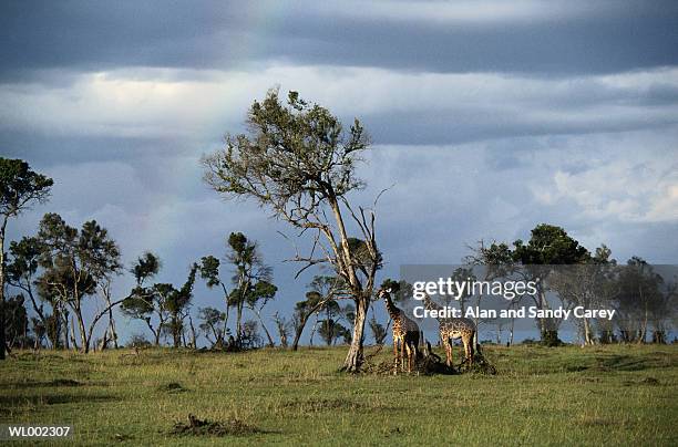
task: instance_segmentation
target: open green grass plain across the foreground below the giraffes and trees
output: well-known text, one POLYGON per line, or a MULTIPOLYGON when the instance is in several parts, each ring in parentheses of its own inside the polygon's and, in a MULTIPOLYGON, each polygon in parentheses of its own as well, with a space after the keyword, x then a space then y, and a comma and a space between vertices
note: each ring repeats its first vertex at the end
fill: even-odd
POLYGON ((485 347, 495 376, 350 376, 345 353, 18 352, 0 424, 72 424, 84 445, 678 445, 676 345, 485 347), (188 414, 251 430, 172 434, 188 414))

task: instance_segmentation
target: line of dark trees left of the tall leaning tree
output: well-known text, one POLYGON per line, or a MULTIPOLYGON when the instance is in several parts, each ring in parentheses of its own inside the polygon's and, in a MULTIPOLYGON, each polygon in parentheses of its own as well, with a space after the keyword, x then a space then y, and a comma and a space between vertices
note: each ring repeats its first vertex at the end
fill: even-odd
MULTIPOLYGON (((52 180, 33 173, 22 160, 0 158, 0 168, 6 201, 1 235, 4 245, 8 219, 27 209, 31 201, 44 202, 52 180)), ((95 220, 75 228, 61 216, 48 212, 35 235, 11 241, 9 250, 2 250, 2 346, 73 349, 85 353, 92 349, 119 347, 113 314, 116 308, 147 328, 150 339, 135 334, 131 344, 167 343, 196 349, 202 335, 213 349, 273 346, 275 334, 263 313, 277 292, 273 270, 264 263, 258 243, 242 232, 230 233, 226 248, 224 261, 205 256, 191 264, 186 280, 179 285, 155 282, 162 261, 157 254, 145 252, 129 268, 135 279, 132 290, 124 297, 113 297, 113 281, 125 269, 119 246, 109 231, 95 220), (194 321, 193 290, 198 278, 208 288, 223 292, 224 306, 198 308, 197 321, 194 321), (17 293, 6 298, 8 290, 17 293), (255 320, 245 321, 245 311, 255 320), (234 333, 228 326, 232 313, 236 320, 234 333), (106 325, 97 331, 102 322, 106 325), (102 335, 95 340, 96 333, 102 335)), ((327 345, 350 341, 353 308, 337 301, 345 288, 337 277, 316 277, 289 320, 278 313, 274 316, 280 343, 297 350, 309 321, 312 321, 311 344, 315 334, 327 345)))

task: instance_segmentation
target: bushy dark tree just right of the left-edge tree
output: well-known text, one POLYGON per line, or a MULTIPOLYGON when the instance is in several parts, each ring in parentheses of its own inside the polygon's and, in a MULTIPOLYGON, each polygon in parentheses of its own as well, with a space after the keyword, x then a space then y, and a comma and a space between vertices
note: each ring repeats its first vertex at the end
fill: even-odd
POLYGON ((84 299, 96 294, 97 289, 106 287, 112 276, 120 273, 122 266, 117 245, 96 221, 83 224, 79 231, 56 214, 44 215, 38 238, 43 247, 40 263, 44 271, 38 280, 41 293, 55 297, 73 312, 81 349, 88 353, 99 320, 123 302, 117 300, 107 304, 92 318, 89 328, 85 326, 84 299))

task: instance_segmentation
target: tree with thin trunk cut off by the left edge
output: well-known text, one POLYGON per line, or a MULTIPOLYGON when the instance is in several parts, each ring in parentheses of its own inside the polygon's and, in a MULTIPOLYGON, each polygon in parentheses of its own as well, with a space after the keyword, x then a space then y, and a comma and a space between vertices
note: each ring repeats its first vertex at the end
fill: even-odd
POLYGON ((53 180, 21 159, 0 157, 0 360, 4 360, 4 235, 10 218, 50 196, 53 180))

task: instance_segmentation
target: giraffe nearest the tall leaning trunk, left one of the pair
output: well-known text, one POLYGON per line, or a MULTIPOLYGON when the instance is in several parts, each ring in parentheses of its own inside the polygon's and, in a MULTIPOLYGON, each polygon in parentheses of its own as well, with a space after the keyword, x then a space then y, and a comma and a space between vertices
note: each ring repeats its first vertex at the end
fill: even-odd
POLYGON ((404 356, 408 357, 408 373, 412 372, 412 364, 419 357, 419 325, 410 320, 405 313, 393 304, 391 300, 391 289, 379 290, 379 298, 383 298, 387 311, 393 320, 393 373, 398 373, 398 363, 404 370, 404 356))

